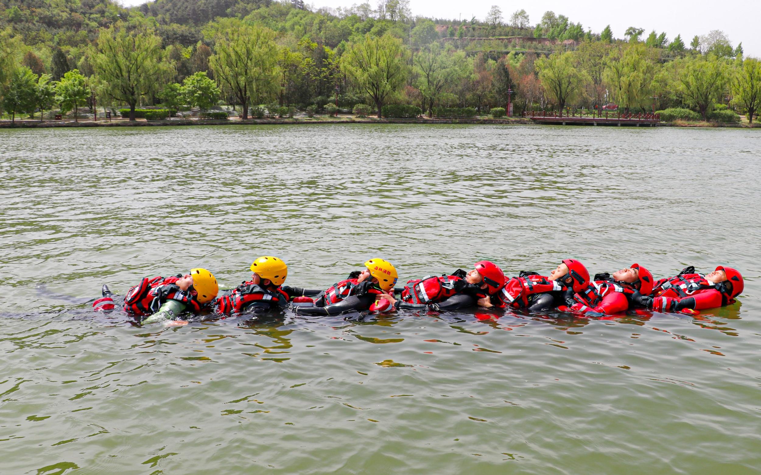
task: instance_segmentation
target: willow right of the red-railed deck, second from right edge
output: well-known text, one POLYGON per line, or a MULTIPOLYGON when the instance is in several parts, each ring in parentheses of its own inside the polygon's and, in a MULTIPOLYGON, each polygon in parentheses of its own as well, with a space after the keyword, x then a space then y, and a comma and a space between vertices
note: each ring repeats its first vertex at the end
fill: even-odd
POLYGON ((684 100, 700 112, 703 120, 715 103, 721 102, 726 81, 724 63, 714 55, 686 59, 680 71, 679 87, 684 100))

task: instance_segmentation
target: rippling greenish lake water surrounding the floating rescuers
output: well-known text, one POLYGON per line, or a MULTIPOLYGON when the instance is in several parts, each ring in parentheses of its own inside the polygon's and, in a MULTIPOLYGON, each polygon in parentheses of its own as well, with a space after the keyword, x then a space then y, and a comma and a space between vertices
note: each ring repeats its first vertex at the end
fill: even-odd
POLYGON ((304 125, 0 130, 2 473, 759 473, 761 133, 304 125), (259 255, 329 287, 565 257, 730 264, 740 303, 501 313, 94 314, 109 283, 259 255))

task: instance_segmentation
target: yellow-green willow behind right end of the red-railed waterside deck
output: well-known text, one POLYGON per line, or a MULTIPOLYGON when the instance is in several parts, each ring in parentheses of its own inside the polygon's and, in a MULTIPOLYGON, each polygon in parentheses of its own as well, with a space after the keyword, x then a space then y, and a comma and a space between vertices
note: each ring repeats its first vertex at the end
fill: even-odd
POLYGON ((648 103, 658 72, 657 59, 658 52, 642 43, 630 43, 620 55, 619 52, 611 52, 608 56, 603 79, 626 112, 648 103))

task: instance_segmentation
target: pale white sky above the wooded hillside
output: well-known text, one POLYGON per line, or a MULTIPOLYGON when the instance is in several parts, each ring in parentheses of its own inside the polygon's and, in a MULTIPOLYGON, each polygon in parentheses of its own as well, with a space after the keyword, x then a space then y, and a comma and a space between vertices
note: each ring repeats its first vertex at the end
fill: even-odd
MULTIPOLYGON (((124 5, 140 5, 142 0, 122 0, 124 5)), ((307 0, 314 7, 349 7, 357 0, 307 0)), ((371 0, 375 6, 377 0, 371 0)), ((530 16, 531 24, 537 24, 542 14, 552 10, 564 14, 573 22, 581 22, 584 30, 592 29, 600 33, 610 24, 613 36, 622 38, 628 27, 645 28, 647 37, 651 30, 665 31, 669 40, 682 35, 684 43, 695 35, 703 35, 711 30, 727 33, 732 46, 743 43, 745 55, 761 57, 761 0, 734 0, 716 2, 708 0, 629 0, 625 2, 593 2, 591 0, 544 0, 541 2, 495 2, 495 0, 410 0, 412 14, 424 17, 449 17, 470 20, 475 15, 479 20, 486 17, 492 5, 498 5, 507 21, 510 14, 524 8, 530 16)))

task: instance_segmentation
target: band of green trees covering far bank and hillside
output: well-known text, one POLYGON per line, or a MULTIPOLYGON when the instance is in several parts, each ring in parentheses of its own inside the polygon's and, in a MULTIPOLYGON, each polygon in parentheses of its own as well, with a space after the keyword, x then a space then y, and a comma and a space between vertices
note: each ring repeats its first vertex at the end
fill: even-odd
MULTIPOLYGON (((720 31, 687 46, 680 36, 643 37, 637 27, 616 40, 610 27, 584 31, 551 11, 532 27, 525 11, 505 22, 496 6, 485 21, 447 24, 412 17, 404 0, 342 11, 310 11, 298 0, 228 0, 200 2, 206 9, 196 11, 199 19, 185 19, 189 31, 199 32, 185 36, 197 41, 183 44, 167 36, 167 28, 181 26, 166 23, 180 15, 170 8, 178 1, 105 9, 127 13, 91 28, 76 47, 50 45, 47 56, 27 44, 24 28, 6 26, 0 30, 2 109, 14 119, 36 110, 74 110, 76 117, 81 107, 126 105, 135 119, 141 105, 206 110, 222 101, 247 118, 250 106, 322 108, 337 94, 339 106, 368 103, 379 117, 390 103, 419 106, 428 116, 437 106, 486 113, 506 107, 510 97, 517 113, 616 103, 628 112, 689 108, 705 120, 715 107, 729 106, 752 121, 761 102, 759 61, 744 58, 742 46, 733 47, 720 31), (218 15, 223 6, 227 17, 218 15), (151 11, 158 16, 146 16, 151 11), (473 48, 489 35, 500 46, 473 48), (515 47, 525 45, 517 41, 541 47, 515 47)), ((18 23, 19 12, 13 5, 0 17, 18 23)))

